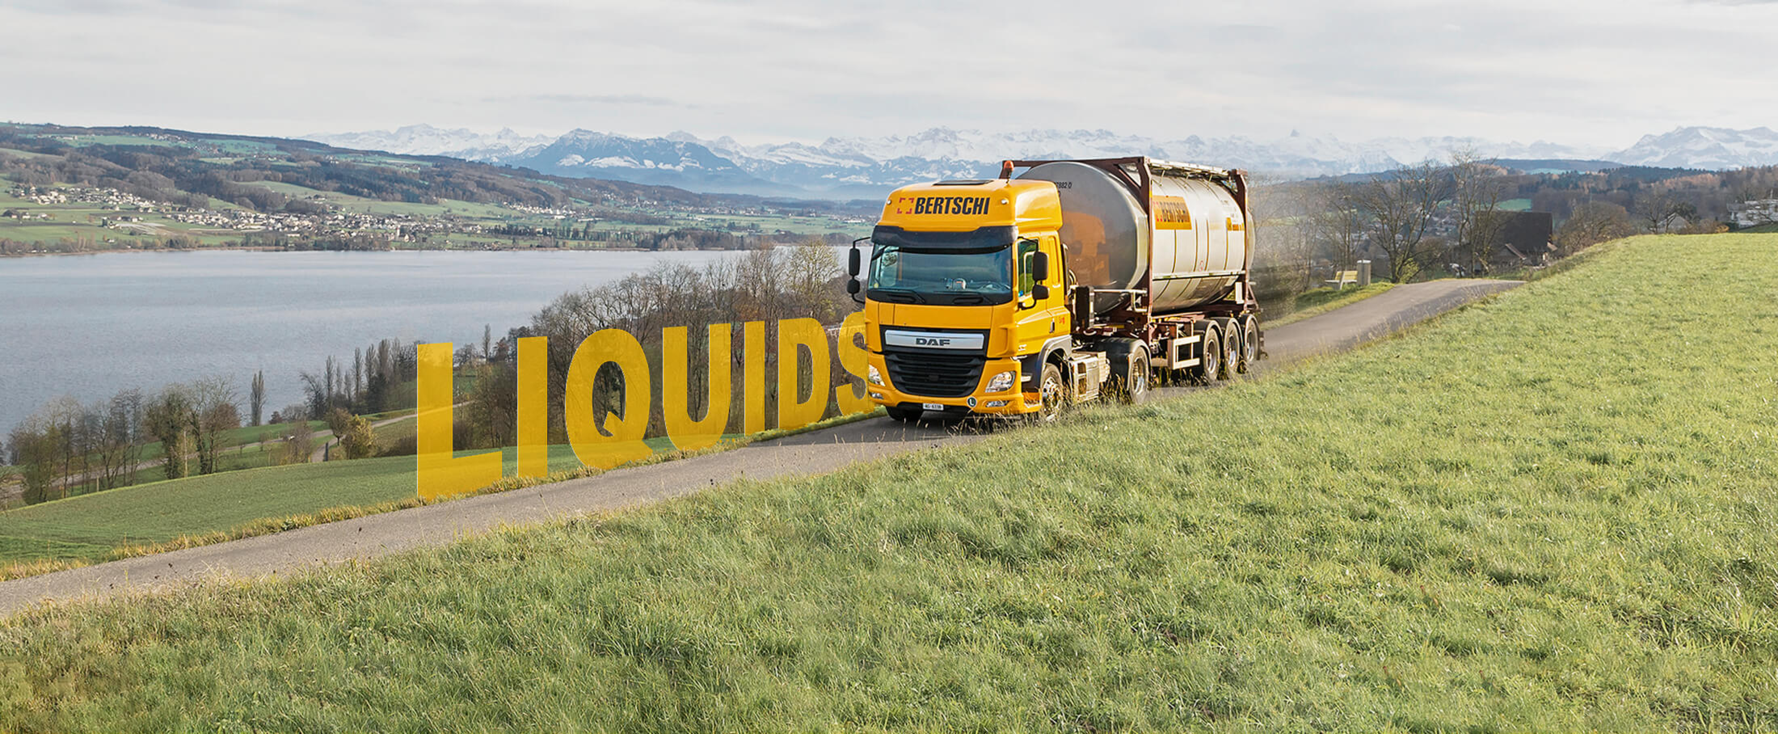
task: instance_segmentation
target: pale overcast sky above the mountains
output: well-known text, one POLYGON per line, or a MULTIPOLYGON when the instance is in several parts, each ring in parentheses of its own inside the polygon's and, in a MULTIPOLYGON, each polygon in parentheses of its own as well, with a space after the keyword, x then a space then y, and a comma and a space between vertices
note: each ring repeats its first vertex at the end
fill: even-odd
POLYGON ((1778 124, 1778 2, 0 0, 0 28, 21 123, 1607 148, 1778 124))

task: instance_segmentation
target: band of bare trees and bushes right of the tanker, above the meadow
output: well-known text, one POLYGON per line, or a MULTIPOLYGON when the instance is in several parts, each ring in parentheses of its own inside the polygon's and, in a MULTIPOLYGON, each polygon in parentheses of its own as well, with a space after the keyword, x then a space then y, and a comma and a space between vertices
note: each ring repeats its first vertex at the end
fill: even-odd
POLYGON ((1510 199, 1529 201, 1552 222, 1552 249, 1527 254, 1561 258, 1634 233, 1726 231, 1730 206, 1778 199, 1778 167, 1527 174, 1454 151, 1369 176, 1259 181, 1255 290, 1287 300, 1358 259, 1396 283, 1538 267, 1502 247, 1515 217, 1502 210, 1510 199))

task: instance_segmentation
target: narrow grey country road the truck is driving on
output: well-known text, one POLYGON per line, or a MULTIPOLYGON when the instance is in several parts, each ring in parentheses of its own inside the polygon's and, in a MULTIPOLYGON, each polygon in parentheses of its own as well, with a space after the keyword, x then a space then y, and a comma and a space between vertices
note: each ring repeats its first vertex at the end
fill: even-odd
MULTIPOLYGON (((1269 359, 1259 373, 1321 352, 1351 348, 1451 311, 1470 300, 1518 286, 1517 281, 1430 281, 1392 288, 1358 304, 1266 332, 1269 359)), ((1205 387, 1166 387, 1179 395, 1205 387)), ((580 514, 645 505, 736 478, 766 480, 820 475, 846 464, 974 443, 981 434, 957 425, 887 418, 761 441, 734 451, 608 471, 599 476, 484 494, 441 505, 318 524, 276 535, 155 556, 128 558, 55 574, 0 583, 0 617, 46 601, 162 592, 219 578, 293 574, 325 563, 370 560, 414 547, 443 546, 503 526, 523 526, 580 514)))

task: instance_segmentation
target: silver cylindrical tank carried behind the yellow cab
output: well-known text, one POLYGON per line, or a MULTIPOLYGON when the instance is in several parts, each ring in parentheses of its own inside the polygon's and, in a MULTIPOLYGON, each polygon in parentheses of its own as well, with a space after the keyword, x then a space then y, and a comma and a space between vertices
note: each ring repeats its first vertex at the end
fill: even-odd
MULTIPOLYGON (((1035 165, 1019 178, 1056 183, 1061 243, 1076 284, 1140 290, 1154 270, 1152 313, 1218 300, 1248 267, 1246 215, 1234 194, 1200 178, 1150 169, 1149 211, 1109 172, 1076 162, 1035 165)), ((1113 311, 1120 295, 1093 300, 1113 311)))

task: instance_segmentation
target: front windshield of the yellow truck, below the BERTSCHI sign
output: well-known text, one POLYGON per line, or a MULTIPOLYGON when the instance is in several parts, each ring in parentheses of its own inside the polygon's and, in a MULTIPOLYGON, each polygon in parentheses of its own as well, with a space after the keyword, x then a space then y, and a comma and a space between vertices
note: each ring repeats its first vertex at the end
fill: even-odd
POLYGON ((877 243, 868 295, 900 304, 1005 304, 1012 300, 1012 243, 969 249, 877 243))

